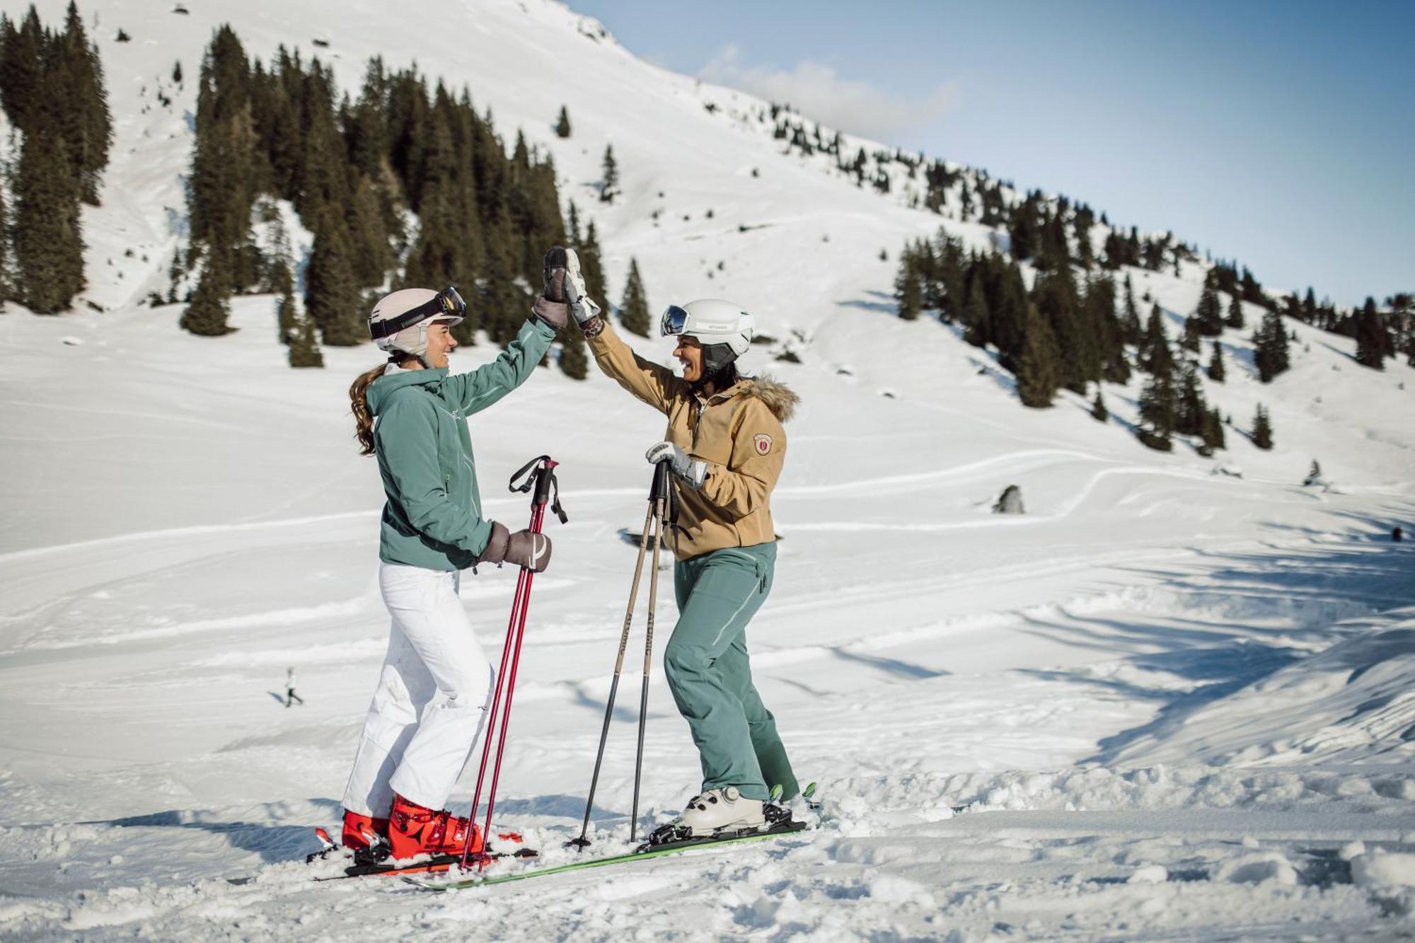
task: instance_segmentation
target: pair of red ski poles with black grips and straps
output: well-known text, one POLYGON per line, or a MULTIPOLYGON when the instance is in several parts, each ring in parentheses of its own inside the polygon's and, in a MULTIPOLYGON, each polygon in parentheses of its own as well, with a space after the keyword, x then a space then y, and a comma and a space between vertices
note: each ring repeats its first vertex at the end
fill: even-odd
MULTIPOLYGON (((511 490, 512 491, 531 491, 533 494, 531 498, 531 532, 539 534, 541 527, 545 521, 545 507, 550 504, 556 515, 563 524, 566 521, 565 511, 560 508, 560 486, 555 477, 555 467, 559 463, 550 459, 548 455, 528 462, 519 471, 511 476, 511 490), (516 480, 526 476, 525 480, 518 486, 516 480), (555 488, 555 500, 550 498, 550 491, 555 488)), ((491 786, 487 793, 487 818, 485 827, 481 830, 481 851, 477 852, 475 858, 478 862, 485 862, 488 859, 487 845, 491 841, 491 814, 495 808, 497 801, 497 783, 501 779, 501 758, 507 748, 507 726, 511 722, 511 702, 515 697, 516 687, 516 670, 521 665, 521 641, 525 637, 526 627, 526 613, 531 609, 531 583, 535 579, 535 571, 521 568, 521 573, 516 578, 516 592, 511 602, 511 619, 507 623, 507 639, 501 646, 501 667, 497 671, 497 687, 495 694, 491 699, 491 711, 487 715, 485 728, 485 742, 481 748, 481 766, 477 770, 477 791, 473 793, 471 800, 471 820, 473 828, 467 830, 467 842, 461 850, 461 867, 467 867, 467 861, 473 858, 471 855, 471 837, 475 828, 477 807, 481 804, 481 787, 487 777, 487 766, 491 760, 491 742, 492 738, 497 741, 497 759, 491 766, 491 786), (507 673, 507 663, 511 664, 509 674, 507 673), (505 694, 505 708, 502 709, 501 699, 505 694), (497 719, 501 719, 501 728, 497 729, 497 719)))

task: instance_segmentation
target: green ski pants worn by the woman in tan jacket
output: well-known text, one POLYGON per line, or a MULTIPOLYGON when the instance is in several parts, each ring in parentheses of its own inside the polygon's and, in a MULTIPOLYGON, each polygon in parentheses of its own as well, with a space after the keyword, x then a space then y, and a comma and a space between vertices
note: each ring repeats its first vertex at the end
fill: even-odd
POLYGON ((801 791, 777 721, 751 684, 747 623, 771 590, 777 545, 732 547, 674 568, 678 624, 664 673, 688 721, 703 767, 703 790, 736 786, 747 799, 801 791))

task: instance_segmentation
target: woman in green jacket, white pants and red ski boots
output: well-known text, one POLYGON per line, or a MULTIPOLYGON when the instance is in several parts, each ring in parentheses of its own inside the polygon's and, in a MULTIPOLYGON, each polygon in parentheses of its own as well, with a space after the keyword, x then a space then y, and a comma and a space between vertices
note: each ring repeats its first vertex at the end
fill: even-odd
POLYGON ((369 334, 388 362, 350 388, 358 442, 378 457, 388 497, 378 582, 392 624, 344 790, 342 841, 362 848, 386 835, 393 858, 460 852, 468 831, 471 850, 481 848, 473 823, 444 808, 492 690, 458 599, 460 571, 507 562, 541 572, 550 562, 548 537, 483 517, 467 416, 531 377, 566 323, 563 310, 559 320, 533 314, 494 361, 449 375, 450 328, 466 310, 456 289, 383 297, 369 334))

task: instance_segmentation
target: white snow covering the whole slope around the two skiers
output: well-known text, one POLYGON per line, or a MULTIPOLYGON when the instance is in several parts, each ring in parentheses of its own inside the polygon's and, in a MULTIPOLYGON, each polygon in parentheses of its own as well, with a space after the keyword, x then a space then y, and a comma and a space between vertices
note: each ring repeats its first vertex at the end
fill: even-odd
MULTIPOLYGON (((61 21, 59 0, 38 6, 61 21)), ((1249 331, 1228 331, 1228 382, 1207 385, 1228 450, 1159 455, 1131 433, 1138 378, 1107 387, 1105 425, 1071 394, 1029 411, 985 351, 891 317, 906 238, 942 222, 986 245, 988 229, 781 154, 770 123, 733 116, 754 99, 645 64, 563 6, 82 6, 117 135, 103 207, 85 210, 85 300, 108 310, 0 314, 0 939, 1415 933, 1415 549, 1390 538, 1415 524, 1415 371, 1364 370, 1351 341, 1289 323, 1295 367, 1265 387, 1249 331), (224 21, 260 58, 327 41, 345 89, 374 54, 470 84, 499 133, 553 153, 562 194, 597 221, 610 300, 634 256, 655 310, 726 296, 792 344, 799 364, 767 348, 744 364, 802 398, 749 644, 802 782, 821 782, 814 830, 440 895, 311 879, 337 871, 304 855, 338 817, 386 639, 378 473, 345 394, 379 358, 325 348, 325 370, 289 370, 269 297, 236 299, 241 330, 215 340, 181 333, 181 306, 137 304, 166 290, 195 75, 224 21), (567 140, 550 129, 562 103, 567 140), (613 205, 594 190, 606 143, 613 205), (1258 402, 1272 452, 1241 432, 1258 402), (1313 459, 1326 483, 1303 487, 1313 459), (989 513, 1007 484, 1024 515, 989 513)), ((1176 336, 1201 269, 1132 278, 1176 336)), ((570 514, 546 528, 497 801, 545 851, 529 867, 576 854, 560 844, 635 554, 618 531, 642 520, 661 430, 601 375, 553 367, 473 422, 490 514, 521 525, 525 498, 501 481, 541 453, 562 462, 570 514)), ((514 585, 464 585, 492 657, 514 585)), ((671 624, 665 600, 659 651, 671 624)), ((641 834, 698 780, 659 667, 641 834)), ((584 854, 630 847, 633 701, 584 854)))

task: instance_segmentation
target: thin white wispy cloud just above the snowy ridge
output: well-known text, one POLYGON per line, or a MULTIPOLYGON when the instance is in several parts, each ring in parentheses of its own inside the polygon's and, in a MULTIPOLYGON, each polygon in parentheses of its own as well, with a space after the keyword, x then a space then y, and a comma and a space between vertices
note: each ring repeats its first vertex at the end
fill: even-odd
POLYGON ((924 98, 901 99, 869 82, 841 78, 833 67, 811 59, 797 62, 791 71, 750 65, 736 45, 724 45, 698 78, 790 103, 825 125, 880 142, 894 142, 910 127, 958 106, 957 82, 938 85, 924 98))

